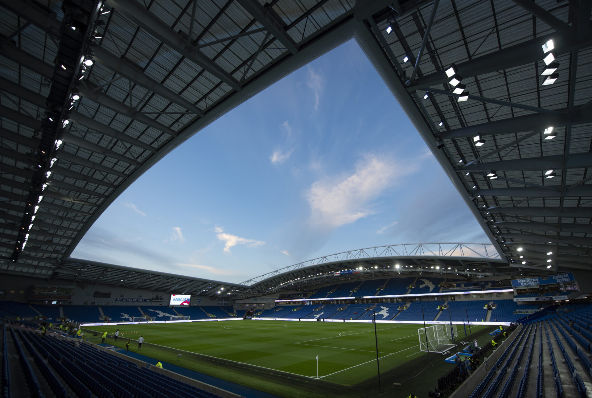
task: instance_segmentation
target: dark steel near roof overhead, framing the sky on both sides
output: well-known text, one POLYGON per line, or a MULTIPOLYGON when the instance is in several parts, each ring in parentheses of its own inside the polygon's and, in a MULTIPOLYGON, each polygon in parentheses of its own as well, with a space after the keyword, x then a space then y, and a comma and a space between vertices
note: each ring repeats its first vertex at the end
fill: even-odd
POLYGON ((0 7, 0 270, 52 275, 159 159, 352 37, 510 265, 590 269, 590 2, 0 7))

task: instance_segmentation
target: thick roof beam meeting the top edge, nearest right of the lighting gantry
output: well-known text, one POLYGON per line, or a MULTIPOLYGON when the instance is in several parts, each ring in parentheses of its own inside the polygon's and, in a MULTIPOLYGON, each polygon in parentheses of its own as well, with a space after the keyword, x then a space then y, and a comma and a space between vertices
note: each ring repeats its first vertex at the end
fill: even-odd
POLYGON ((200 50, 195 50, 194 52, 187 50, 191 46, 191 43, 188 43, 184 37, 177 34, 157 18, 156 15, 152 14, 152 12, 142 7, 139 2, 135 0, 107 0, 107 4, 117 9, 117 11, 121 12, 121 14, 125 15, 131 21, 134 21, 134 23, 146 30, 157 40, 162 41, 191 62, 201 66, 201 68, 210 72, 217 79, 226 82, 226 84, 236 91, 240 91, 238 82, 226 70, 201 53, 200 50))

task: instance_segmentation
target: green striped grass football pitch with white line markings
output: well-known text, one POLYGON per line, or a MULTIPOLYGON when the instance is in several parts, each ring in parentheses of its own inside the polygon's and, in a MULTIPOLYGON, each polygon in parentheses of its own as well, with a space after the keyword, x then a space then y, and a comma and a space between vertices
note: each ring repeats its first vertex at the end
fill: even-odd
MULTIPOLYGON (((426 355, 420 352, 419 327, 377 324, 381 373, 426 355)), ((129 336, 133 340, 131 351, 137 352, 134 340, 143 335, 141 354, 174 362, 180 353, 183 356, 179 365, 226 380, 234 378, 232 369, 224 370, 224 363, 211 366, 211 358, 220 358, 229 364, 249 365, 252 377, 269 374, 271 370, 292 378, 316 380, 317 356, 319 380, 353 386, 377 375, 377 343, 372 323, 232 320, 94 327, 97 332, 106 329, 110 334, 117 328, 124 338, 119 339, 117 346, 123 347, 129 336), (209 365, 205 363, 208 359, 209 365)), ((468 341, 463 326, 458 328, 459 341, 468 341)), ((472 332, 482 328, 472 326, 472 332)), ((108 342, 112 344, 113 340, 108 342)), ((442 357, 433 355, 438 359, 442 357)))

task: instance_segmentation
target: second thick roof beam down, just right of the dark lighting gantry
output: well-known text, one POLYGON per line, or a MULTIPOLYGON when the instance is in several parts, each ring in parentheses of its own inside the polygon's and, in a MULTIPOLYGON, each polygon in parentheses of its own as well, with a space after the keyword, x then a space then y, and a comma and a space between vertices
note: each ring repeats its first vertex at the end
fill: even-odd
MULTIPOLYGON (((197 2, 197 0, 194 0, 194 4, 195 2, 197 2)), ((117 72, 118 75, 124 76, 124 78, 149 89, 155 94, 160 95, 160 97, 166 98, 171 102, 175 102, 175 104, 185 107, 188 111, 192 111, 197 115, 203 116, 202 110, 196 107, 191 101, 185 100, 185 98, 181 97, 181 95, 176 94, 176 92, 173 92, 171 89, 166 88, 159 82, 150 78, 150 76, 141 72, 137 66, 133 65, 128 60, 121 59, 120 57, 117 57, 115 54, 112 54, 100 46, 93 47, 92 50, 96 54, 95 59, 97 62, 102 63, 114 72, 117 72)))

